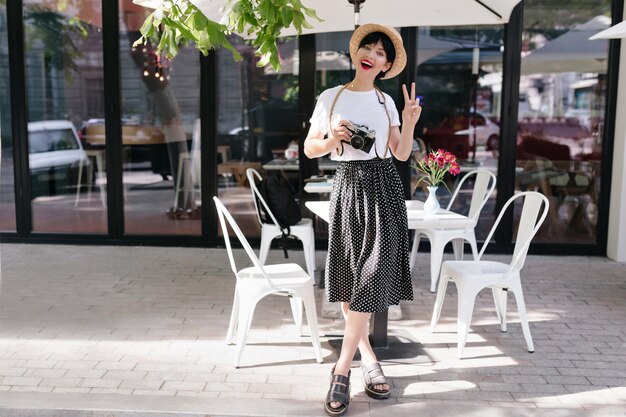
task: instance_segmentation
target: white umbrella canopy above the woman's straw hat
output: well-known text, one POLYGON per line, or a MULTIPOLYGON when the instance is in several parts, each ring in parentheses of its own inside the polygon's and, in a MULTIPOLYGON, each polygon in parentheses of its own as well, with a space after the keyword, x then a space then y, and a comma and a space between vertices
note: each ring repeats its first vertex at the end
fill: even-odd
MULTIPOLYGON (((161 0, 133 0, 156 8, 161 0)), ((190 0, 209 19, 220 21, 224 0, 190 0)), ((509 21, 520 0, 366 0, 361 4, 360 22, 394 27, 499 25, 509 21)), ((302 0, 323 22, 311 21, 312 29, 302 33, 343 32, 354 29, 354 6, 347 0, 302 0)), ((295 35, 289 28, 282 36, 295 35)))

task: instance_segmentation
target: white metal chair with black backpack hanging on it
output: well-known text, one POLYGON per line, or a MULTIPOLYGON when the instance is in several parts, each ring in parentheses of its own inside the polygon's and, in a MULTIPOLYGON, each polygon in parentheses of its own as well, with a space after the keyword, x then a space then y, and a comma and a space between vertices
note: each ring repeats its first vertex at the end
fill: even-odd
MULTIPOLYGON (((261 248, 259 251, 259 259, 262 264, 265 264, 267 260, 267 254, 269 253, 272 240, 283 235, 283 231, 280 228, 276 217, 270 210, 269 206, 261 196, 259 189, 256 186, 256 182, 262 180, 261 174, 254 169, 248 168, 246 170, 248 182, 250 183, 250 189, 252 190, 252 199, 254 200, 254 208, 256 209, 256 216, 261 225, 261 248), (261 220, 259 202, 263 205, 266 213, 269 213, 269 217, 272 223, 264 223, 261 220)), ((315 231, 313 230, 313 220, 304 218, 293 226, 289 226, 289 235, 297 237, 302 242, 304 249, 304 261, 306 262, 306 268, 309 275, 315 278, 315 231)))

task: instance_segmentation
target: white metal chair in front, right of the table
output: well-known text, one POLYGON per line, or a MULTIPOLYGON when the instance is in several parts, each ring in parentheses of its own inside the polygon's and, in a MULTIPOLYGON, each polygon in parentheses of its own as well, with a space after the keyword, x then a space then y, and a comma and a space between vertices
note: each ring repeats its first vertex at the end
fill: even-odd
POLYGON ((446 261, 443 263, 439 277, 435 308, 430 322, 430 331, 435 331, 435 326, 441 314, 441 307, 446 295, 448 282, 452 281, 456 285, 459 297, 457 313, 457 356, 459 358, 463 357, 463 348, 465 347, 465 341, 467 340, 467 334, 472 321, 474 301, 478 293, 484 288, 491 288, 492 290, 496 314, 500 322, 500 329, 503 332, 506 331, 507 295, 509 292, 513 292, 517 309, 519 310, 522 331, 524 333, 524 339, 526 339, 528 351, 531 353, 534 352, 535 347, 530 335, 530 328, 528 327, 528 318, 526 317, 526 306, 522 293, 520 270, 524 266, 530 242, 548 214, 549 205, 548 199, 535 191, 525 191, 514 195, 506 202, 500 211, 496 222, 487 236, 487 240, 485 240, 475 260, 446 261), (503 262, 481 260, 485 248, 489 244, 502 216, 507 208, 518 199, 523 199, 524 203, 519 226, 517 228, 517 238, 511 262, 506 264, 503 262))

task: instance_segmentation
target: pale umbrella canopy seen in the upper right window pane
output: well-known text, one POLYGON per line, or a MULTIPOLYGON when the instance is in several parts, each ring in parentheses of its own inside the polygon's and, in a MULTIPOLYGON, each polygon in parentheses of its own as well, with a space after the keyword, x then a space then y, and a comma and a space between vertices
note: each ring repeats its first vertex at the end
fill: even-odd
POLYGON ((522 74, 555 72, 605 73, 607 66, 607 41, 592 42, 589 37, 611 24, 606 16, 596 16, 578 25, 542 48, 522 59, 522 74))

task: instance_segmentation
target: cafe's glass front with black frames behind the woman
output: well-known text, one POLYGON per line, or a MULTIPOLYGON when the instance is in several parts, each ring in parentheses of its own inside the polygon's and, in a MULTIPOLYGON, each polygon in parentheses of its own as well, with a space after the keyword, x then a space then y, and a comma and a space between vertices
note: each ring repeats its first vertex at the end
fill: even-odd
MULTIPOLYGON (((276 72, 236 36, 241 62, 134 47, 146 13, 131 0, 0 3, 3 240, 213 246, 213 195, 255 240, 247 168, 285 176, 301 202, 327 197, 303 191, 333 164, 308 160, 302 142, 316 96, 353 76, 350 33, 281 39, 276 72)), ((626 258, 620 45, 588 40, 622 15, 623 0, 523 0, 506 25, 401 28, 407 68, 380 86, 400 110, 402 83, 422 97, 413 158, 396 164, 407 198, 425 198, 411 164, 444 148, 463 172, 497 174, 479 240, 513 193, 538 190, 551 206, 532 251, 626 258)), ((496 250, 511 247, 518 214, 496 250)))

